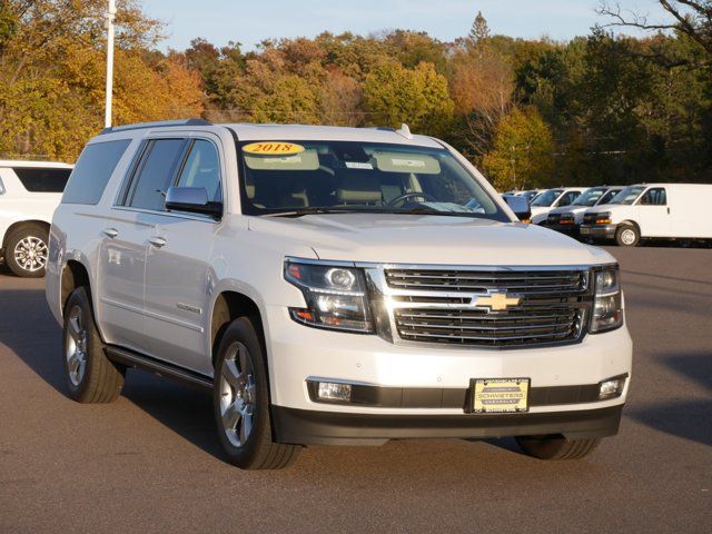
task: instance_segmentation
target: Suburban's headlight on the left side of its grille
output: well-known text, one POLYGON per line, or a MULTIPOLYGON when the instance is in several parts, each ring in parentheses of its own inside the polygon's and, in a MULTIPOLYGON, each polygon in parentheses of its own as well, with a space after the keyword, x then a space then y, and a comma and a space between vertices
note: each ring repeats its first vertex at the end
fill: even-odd
POLYGON ((373 334, 366 281, 360 269, 285 261, 285 279, 304 294, 306 308, 289 308, 297 323, 373 334))

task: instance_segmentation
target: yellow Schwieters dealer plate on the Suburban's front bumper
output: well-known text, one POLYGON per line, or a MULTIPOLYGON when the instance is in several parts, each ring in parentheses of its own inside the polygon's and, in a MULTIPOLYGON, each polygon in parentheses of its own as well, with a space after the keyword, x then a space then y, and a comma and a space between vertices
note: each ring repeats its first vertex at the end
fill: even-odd
POLYGON ((473 378, 472 412, 475 414, 515 414, 528 412, 528 378, 473 378))

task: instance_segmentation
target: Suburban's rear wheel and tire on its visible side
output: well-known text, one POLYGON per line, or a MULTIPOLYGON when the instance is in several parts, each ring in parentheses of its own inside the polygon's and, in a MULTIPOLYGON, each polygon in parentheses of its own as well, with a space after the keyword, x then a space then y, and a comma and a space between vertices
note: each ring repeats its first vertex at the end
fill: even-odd
POLYGON ((103 352, 87 289, 79 287, 65 306, 65 383, 78 403, 111 403, 123 387, 123 367, 103 352))

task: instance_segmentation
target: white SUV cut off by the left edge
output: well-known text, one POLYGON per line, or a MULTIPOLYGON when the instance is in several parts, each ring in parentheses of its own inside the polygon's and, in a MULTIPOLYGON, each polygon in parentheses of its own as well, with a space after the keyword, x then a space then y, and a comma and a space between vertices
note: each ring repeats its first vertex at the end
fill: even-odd
POLYGON ((72 166, 0 160, 0 256, 18 276, 42 277, 49 226, 72 166))

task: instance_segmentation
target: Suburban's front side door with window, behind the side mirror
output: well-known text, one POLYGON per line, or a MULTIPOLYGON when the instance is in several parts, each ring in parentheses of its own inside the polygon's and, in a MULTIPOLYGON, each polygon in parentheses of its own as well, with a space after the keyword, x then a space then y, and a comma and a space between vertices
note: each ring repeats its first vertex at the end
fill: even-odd
MULTIPOLYGON (((224 176, 219 138, 191 139, 174 185, 201 187, 208 199, 222 202, 224 176)), ((146 328, 150 354, 194 372, 211 375, 209 299, 215 285, 210 268, 212 238, 219 222, 209 216, 166 211, 147 215, 150 224, 146 271, 146 328)))

